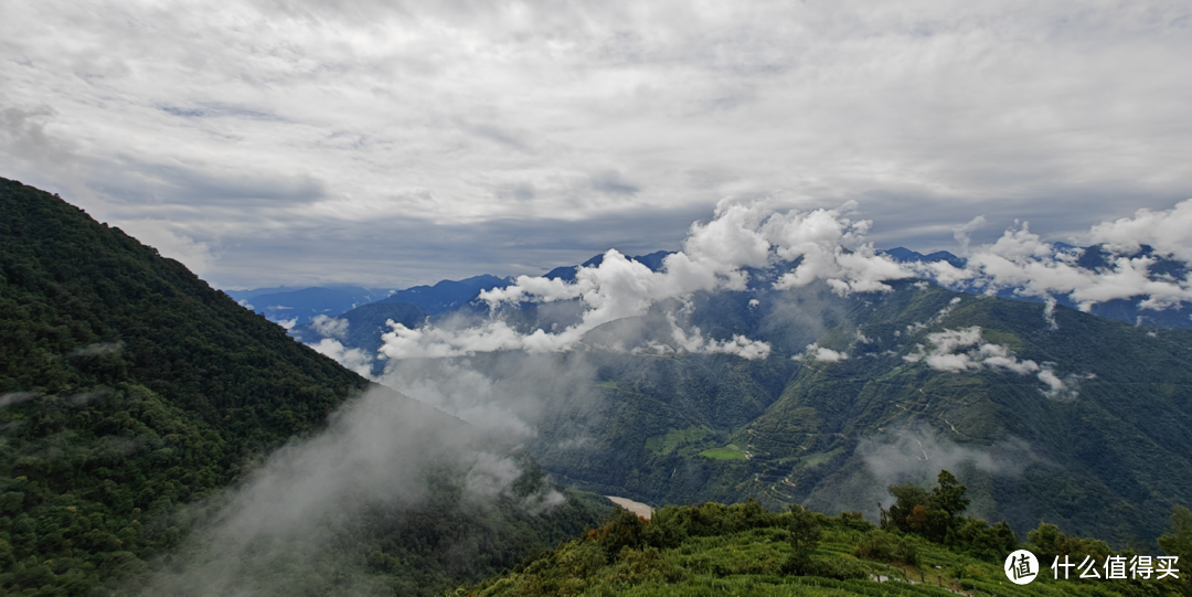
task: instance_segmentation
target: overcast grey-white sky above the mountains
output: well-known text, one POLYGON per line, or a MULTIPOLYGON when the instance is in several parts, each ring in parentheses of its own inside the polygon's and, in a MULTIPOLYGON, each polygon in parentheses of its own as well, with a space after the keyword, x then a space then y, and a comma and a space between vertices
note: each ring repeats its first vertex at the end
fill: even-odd
POLYGON ((1192 198, 1187 2, 0 5, 0 176, 225 288, 677 249, 718 200, 879 248, 1192 198))

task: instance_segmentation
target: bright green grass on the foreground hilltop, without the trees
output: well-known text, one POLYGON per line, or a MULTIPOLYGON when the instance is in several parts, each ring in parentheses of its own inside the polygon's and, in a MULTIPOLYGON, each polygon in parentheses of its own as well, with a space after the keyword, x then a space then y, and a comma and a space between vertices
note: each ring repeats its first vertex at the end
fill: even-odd
POLYGON ((1006 580, 999 562, 957 553, 920 537, 907 536, 918 555, 917 565, 906 565, 861 558, 857 545, 864 531, 838 522, 824 530, 813 559, 859 566, 868 578, 839 580, 784 574, 782 562, 791 552, 786 531, 760 528, 691 536, 669 549, 626 548, 608 559, 592 542, 572 541, 524 570, 449 595, 1112 597, 1144 593, 1157 597, 1175 596, 1178 591, 1167 583, 1129 586, 1125 582, 1053 580, 1047 568, 1033 583, 1018 586, 1006 580), (879 576, 886 582, 879 583, 879 576))

